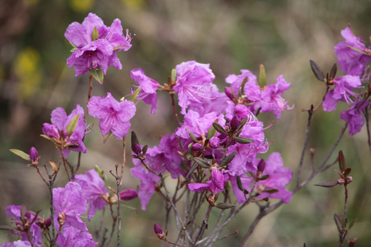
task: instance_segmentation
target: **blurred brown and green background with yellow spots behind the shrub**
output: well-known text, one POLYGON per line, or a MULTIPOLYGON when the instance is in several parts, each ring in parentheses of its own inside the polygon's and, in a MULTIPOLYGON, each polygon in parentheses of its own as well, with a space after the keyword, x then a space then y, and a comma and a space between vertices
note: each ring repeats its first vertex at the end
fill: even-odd
MULTIPOLYGON (((260 117, 266 126, 275 121, 266 130, 267 139, 273 141, 269 151, 282 153, 285 165, 294 171, 294 178, 307 119, 302 109, 318 104, 325 90, 315 80, 309 60, 329 71, 337 60, 333 47, 342 40, 341 30, 351 25, 352 31, 365 40, 371 34, 371 1, 368 0, 0 0, 0 6, 0 225, 10 224, 5 215, 8 204, 24 204, 27 209, 42 209, 41 214, 48 215, 47 188, 34 169, 27 169, 27 163, 8 150, 28 152, 35 146, 42 163, 58 162, 54 145, 39 134, 43 123, 50 121, 54 108, 61 106, 67 113, 76 104, 85 108, 89 75, 75 78, 74 70, 67 67, 71 46, 64 33, 70 23, 81 23, 89 12, 98 14, 106 25, 119 18, 124 29, 136 34, 133 47, 118 54, 123 69, 109 68, 103 85, 94 82, 93 95, 105 96, 107 91, 116 99, 128 95, 132 83, 129 71, 137 67, 163 84, 176 64, 188 60, 210 63, 216 75, 215 83, 221 90, 227 75, 238 74, 240 69, 257 73, 259 64, 265 65, 271 83, 283 74, 291 82, 291 89, 284 97, 295 108, 286 110, 282 119, 269 114, 260 117)), ((161 134, 174 130, 170 104, 170 97, 161 93, 156 115, 150 115, 148 106, 138 104, 132 129, 142 144, 155 145, 161 134)), ((344 108, 339 104, 335 112, 324 113, 320 109, 315 114, 308 146, 316 149, 317 164, 344 126, 344 121, 339 119, 344 108)), ((92 117, 88 121, 95 126, 86 138, 88 154, 82 157, 80 172, 99 165, 108 174, 116 163, 122 162, 122 143, 111 138, 103 144, 98 121, 92 117)), ((371 158, 366 130, 352 138, 347 132, 335 154, 339 149, 344 151, 346 163, 352 168, 348 218, 358 217, 358 220, 350 237, 357 237, 359 246, 368 246, 371 158)), ((127 155, 130 156, 129 151, 127 155)), ((71 163, 76 163, 76 158, 71 155, 71 163)), ((330 161, 334 159, 335 155, 330 161)), ((131 166, 129 158, 127 168, 131 166)), ((304 177, 310 171, 307 152, 304 177)), ((113 179, 108 177, 113 187, 113 179)), ((329 169, 296 193, 289 204, 265 217, 251 237, 251 246, 337 245, 333 214, 343 211, 344 191, 341 187, 313 186, 335 179, 337 174, 329 169)), ((56 186, 64 183, 65 178, 59 176, 56 186)), ((124 189, 135 189, 137 185, 139 182, 126 169, 124 189)), ((140 208, 139 200, 127 204, 140 208)), ((123 208, 123 245, 160 246, 153 224, 163 222, 163 208, 164 202, 157 195, 147 211, 135 213, 123 208)), ((227 234, 238 229, 240 234, 215 246, 237 246, 256 212, 255 205, 243 210, 225 230, 227 234)), ((91 232, 98 221, 89 223, 91 232)), ((209 231, 212 222, 213 215, 209 231)), ((111 226, 109 218, 104 226, 111 226)), ((8 232, 0 231, 0 244, 14 240, 8 232)))

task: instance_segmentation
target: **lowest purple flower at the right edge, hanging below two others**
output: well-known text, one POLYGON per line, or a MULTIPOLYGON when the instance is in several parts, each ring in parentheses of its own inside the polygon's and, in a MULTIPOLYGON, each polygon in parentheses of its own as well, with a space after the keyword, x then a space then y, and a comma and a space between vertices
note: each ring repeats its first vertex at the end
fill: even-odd
POLYGON ((340 117, 349 124, 349 134, 352 136, 361 131, 363 124, 362 110, 364 110, 370 101, 364 102, 363 99, 357 99, 357 101, 350 106, 349 110, 341 112, 340 117))

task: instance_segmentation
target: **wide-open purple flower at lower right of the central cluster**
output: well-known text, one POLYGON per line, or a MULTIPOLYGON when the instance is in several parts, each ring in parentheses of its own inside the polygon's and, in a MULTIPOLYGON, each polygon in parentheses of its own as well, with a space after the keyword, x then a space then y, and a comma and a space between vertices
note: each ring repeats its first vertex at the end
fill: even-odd
MULTIPOLYGON (((256 160, 255 163, 256 166, 258 166, 260 160, 256 160)), ((267 162, 265 162, 264 171, 261 172, 257 170, 254 175, 257 176, 257 174, 260 174, 260 177, 269 175, 269 178, 265 180, 259 180, 255 183, 255 178, 251 178, 250 176, 247 176, 247 174, 242 174, 240 175, 240 180, 243 189, 251 192, 251 185, 255 183, 254 190, 260 193, 260 196, 258 196, 258 198, 276 198, 282 200, 282 202, 284 203, 290 202, 292 192, 288 191, 285 187, 291 182, 293 172, 291 172, 291 169, 283 167, 283 161, 279 152, 273 152, 271 155, 269 155, 269 157, 267 158, 267 162), (278 191, 274 193, 266 192, 272 189, 277 189, 278 191)), ((245 195, 243 191, 240 191, 240 189, 238 189, 236 177, 231 177, 231 182, 238 203, 241 204, 245 202, 245 195)))

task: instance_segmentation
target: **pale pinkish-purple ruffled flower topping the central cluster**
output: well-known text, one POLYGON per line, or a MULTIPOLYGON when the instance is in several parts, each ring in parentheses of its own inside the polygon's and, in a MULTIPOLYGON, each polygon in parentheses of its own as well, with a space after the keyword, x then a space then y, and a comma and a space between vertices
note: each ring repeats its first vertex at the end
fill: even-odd
POLYGON ((201 103, 212 92, 215 75, 209 66, 210 64, 188 61, 175 67, 177 84, 173 89, 178 94, 181 114, 186 114, 186 109, 192 102, 201 103))

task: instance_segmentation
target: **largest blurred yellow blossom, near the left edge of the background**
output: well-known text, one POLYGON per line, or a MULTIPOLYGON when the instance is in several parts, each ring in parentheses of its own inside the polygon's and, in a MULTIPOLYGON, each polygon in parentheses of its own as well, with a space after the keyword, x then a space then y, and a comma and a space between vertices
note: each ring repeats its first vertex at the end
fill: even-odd
POLYGON ((40 54, 32 47, 24 49, 16 56, 14 72, 19 78, 17 91, 19 99, 27 99, 37 91, 41 82, 39 64, 40 54))

